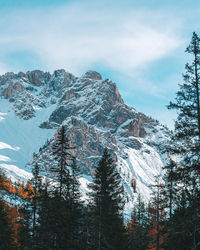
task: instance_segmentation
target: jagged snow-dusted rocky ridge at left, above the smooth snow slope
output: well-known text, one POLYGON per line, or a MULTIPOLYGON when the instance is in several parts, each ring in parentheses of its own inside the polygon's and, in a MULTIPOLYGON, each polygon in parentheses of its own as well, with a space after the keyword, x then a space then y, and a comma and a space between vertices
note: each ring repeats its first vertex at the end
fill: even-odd
POLYGON ((0 76, 0 95, 13 102, 20 118, 28 120, 35 116, 35 110, 55 104, 75 79, 65 70, 52 75, 40 70, 6 73, 0 76))

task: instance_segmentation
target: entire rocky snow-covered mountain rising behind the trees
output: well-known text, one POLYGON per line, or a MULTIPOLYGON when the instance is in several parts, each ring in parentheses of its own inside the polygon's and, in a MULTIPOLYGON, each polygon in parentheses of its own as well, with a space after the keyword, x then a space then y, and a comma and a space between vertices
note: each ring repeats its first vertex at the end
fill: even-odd
POLYGON ((95 71, 82 77, 64 70, 0 76, 0 167, 13 180, 30 178, 33 162, 48 175, 45 166, 54 162, 51 146, 61 125, 75 146, 83 193, 108 147, 122 177, 126 211, 137 193, 149 197, 165 164, 170 132, 126 105, 115 83, 95 71))

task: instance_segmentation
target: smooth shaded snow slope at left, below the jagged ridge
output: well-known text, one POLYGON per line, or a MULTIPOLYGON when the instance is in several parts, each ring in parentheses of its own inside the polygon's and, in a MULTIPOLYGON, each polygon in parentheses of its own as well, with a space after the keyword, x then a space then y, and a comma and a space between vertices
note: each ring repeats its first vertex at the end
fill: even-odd
POLYGON ((36 112, 36 117, 26 121, 16 116, 8 100, 0 100, 0 167, 12 180, 27 180, 31 169, 26 163, 34 152, 50 139, 55 129, 41 129, 41 120, 47 119, 54 105, 36 112))

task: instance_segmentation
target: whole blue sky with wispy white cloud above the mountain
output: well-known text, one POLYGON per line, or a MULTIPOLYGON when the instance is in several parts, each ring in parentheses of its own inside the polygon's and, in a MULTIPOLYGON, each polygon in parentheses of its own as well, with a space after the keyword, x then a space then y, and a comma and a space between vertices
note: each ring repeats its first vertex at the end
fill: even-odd
POLYGON ((123 99, 173 128, 175 97, 199 32, 194 0, 1 0, 0 74, 93 69, 117 83, 123 99))

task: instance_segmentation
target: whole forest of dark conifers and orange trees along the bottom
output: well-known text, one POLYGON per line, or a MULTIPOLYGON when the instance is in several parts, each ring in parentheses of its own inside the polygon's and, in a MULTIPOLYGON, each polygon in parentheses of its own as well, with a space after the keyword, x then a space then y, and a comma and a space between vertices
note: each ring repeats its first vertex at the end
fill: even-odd
POLYGON ((123 216, 123 186, 108 149, 95 168, 88 200, 81 200, 80 169, 65 127, 55 137, 50 172, 13 184, 0 173, 0 249, 197 250, 200 249, 200 38, 193 33, 183 83, 168 108, 178 117, 166 147, 164 177, 156 176, 145 203, 138 194, 131 218, 123 216), (164 179, 164 181, 163 181, 164 179), (10 202, 12 197, 14 204, 10 202))

